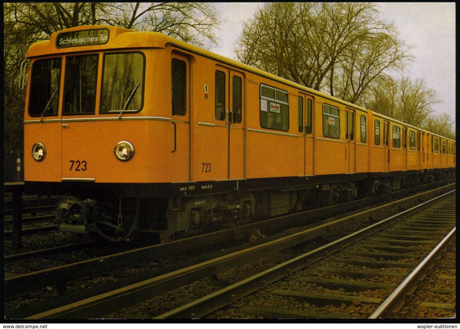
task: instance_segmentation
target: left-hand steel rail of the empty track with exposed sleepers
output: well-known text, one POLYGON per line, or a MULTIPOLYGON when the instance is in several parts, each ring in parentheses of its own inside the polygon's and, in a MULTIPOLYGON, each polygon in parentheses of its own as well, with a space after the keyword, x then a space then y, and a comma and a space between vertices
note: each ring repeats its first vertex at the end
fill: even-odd
POLYGON ((374 223, 368 227, 365 227, 357 232, 351 233, 343 238, 339 238, 329 244, 311 250, 303 255, 297 256, 289 261, 285 261, 281 264, 278 264, 270 269, 267 269, 263 272, 257 273, 249 278, 246 278, 240 282, 232 284, 228 287, 220 289, 210 295, 203 296, 196 301, 192 301, 186 305, 180 306, 169 312, 165 312, 154 319, 165 319, 165 318, 201 318, 209 314, 210 312, 217 311, 219 308, 224 307, 228 302, 236 300, 245 295, 253 293, 258 290, 261 286, 271 284, 281 278, 283 278, 286 273, 295 272, 306 266, 307 261, 321 259, 324 255, 331 254, 342 248, 344 245, 348 245, 356 241, 356 239, 361 238, 365 235, 370 235, 369 231, 383 226, 388 221, 395 219, 399 216, 407 214, 417 208, 423 207, 426 204, 429 204, 437 199, 440 199, 450 193, 455 192, 455 190, 448 193, 444 193, 436 198, 428 200, 422 204, 416 205, 408 210, 404 210, 394 216, 385 218, 382 221, 374 223), (351 241, 353 240, 353 241, 351 241), (332 249, 332 250, 331 250, 332 249), (316 258, 315 258, 316 257, 316 258))

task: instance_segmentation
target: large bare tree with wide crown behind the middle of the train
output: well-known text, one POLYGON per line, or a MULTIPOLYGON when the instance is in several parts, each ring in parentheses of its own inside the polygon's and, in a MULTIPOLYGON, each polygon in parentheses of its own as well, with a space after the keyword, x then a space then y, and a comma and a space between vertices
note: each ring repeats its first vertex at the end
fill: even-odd
POLYGON ((371 81, 410 61, 372 3, 268 3, 245 23, 235 52, 246 64, 359 102, 371 81))

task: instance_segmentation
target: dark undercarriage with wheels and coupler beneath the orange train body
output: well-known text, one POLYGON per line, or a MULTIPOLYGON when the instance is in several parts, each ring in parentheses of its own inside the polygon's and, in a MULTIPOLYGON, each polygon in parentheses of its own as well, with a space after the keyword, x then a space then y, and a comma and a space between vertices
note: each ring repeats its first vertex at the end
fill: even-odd
MULTIPOLYGON (((369 177, 370 176, 370 177, 369 177)), ((244 225, 248 221, 389 193, 454 176, 454 170, 418 170, 407 175, 233 190, 168 197, 108 195, 83 199, 65 194, 57 202, 62 232, 91 234, 112 242, 142 234, 164 243, 178 238, 244 225)), ((209 185, 207 185, 209 187, 209 185)), ((193 190, 193 189, 192 189, 193 190)), ((190 193, 189 193, 190 194, 190 193)))

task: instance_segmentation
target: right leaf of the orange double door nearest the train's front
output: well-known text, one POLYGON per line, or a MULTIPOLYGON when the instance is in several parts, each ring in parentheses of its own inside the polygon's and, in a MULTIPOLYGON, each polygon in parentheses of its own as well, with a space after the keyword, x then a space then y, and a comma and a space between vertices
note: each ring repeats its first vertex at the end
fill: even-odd
POLYGON ((244 75, 240 72, 228 70, 229 97, 227 100, 227 126, 229 143, 228 178, 245 177, 244 156, 244 116, 245 116, 245 86, 244 75))

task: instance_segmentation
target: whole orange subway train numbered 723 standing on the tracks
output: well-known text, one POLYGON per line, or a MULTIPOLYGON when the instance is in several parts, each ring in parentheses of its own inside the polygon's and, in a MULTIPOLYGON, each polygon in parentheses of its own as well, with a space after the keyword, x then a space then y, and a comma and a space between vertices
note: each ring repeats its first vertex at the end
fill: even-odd
POLYGON ((159 241, 455 175, 455 141, 164 34, 81 26, 32 45, 27 193, 62 232, 159 241))

